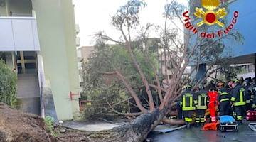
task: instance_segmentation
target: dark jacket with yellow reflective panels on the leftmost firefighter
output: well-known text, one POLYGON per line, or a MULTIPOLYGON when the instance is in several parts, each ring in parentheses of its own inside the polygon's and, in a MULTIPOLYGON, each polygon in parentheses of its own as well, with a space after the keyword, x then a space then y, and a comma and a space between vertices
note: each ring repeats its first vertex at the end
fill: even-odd
POLYGON ((196 95, 195 92, 191 91, 191 89, 186 89, 181 93, 181 106, 183 111, 193 111, 196 110, 194 99, 196 95))

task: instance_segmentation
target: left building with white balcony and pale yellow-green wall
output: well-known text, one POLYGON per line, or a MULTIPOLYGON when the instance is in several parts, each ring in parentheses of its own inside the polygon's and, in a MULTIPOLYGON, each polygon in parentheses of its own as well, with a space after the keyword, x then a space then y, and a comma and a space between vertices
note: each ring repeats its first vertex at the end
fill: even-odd
POLYGON ((0 0, 0 6, 0 58, 17 72, 17 97, 35 95, 41 99, 41 114, 73 119, 79 111, 80 85, 72 1, 0 0), (28 79, 38 85, 31 87, 28 79), (54 102, 48 111, 46 92, 54 102))

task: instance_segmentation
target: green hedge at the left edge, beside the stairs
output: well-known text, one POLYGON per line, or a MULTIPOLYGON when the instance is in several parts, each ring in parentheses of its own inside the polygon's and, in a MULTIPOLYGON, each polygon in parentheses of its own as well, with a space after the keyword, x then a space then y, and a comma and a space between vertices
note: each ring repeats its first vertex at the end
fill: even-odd
POLYGON ((17 75, 0 59, 0 102, 13 106, 16 102, 17 75))

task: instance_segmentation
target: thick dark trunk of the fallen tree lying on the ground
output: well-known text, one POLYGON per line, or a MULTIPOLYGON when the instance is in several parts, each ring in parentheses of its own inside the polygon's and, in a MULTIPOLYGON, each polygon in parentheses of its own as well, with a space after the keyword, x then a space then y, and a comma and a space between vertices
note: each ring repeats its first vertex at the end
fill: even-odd
POLYGON ((156 109, 153 112, 138 116, 132 123, 124 124, 107 131, 77 131, 67 129, 65 133, 60 133, 59 141, 143 141, 148 133, 162 121, 164 111, 156 109))

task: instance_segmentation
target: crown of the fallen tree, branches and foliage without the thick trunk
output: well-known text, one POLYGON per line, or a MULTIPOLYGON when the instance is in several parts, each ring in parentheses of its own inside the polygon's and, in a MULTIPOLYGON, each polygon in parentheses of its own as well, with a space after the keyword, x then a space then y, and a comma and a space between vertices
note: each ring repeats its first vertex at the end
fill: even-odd
MULTIPOLYGON (((194 35, 179 27, 170 28, 169 24, 174 23, 174 18, 183 24, 181 16, 184 7, 176 1, 171 1, 164 7, 164 27, 159 28, 148 23, 137 31, 139 11, 145 5, 143 1, 128 1, 112 16, 112 26, 120 31, 120 39, 115 40, 103 32, 95 35, 95 53, 85 65, 87 81, 83 85, 86 95, 96 92, 99 97, 92 101, 102 102, 92 104, 92 107, 96 108, 95 113, 92 113, 96 114, 93 119, 97 114, 106 117, 114 114, 136 117, 156 109, 171 111, 186 83, 193 84, 193 89, 196 89, 197 85, 205 82, 212 73, 227 70, 230 62, 226 60, 230 54, 229 50, 226 50, 228 45, 225 45, 225 42, 242 41, 242 36, 236 31, 220 38, 208 39, 200 38, 198 34, 194 35), (134 31, 139 35, 134 36, 134 31), (152 40, 149 38, 150 31, 159 31, 160 37, 152 40), (183 35, 184 40, 181 40, 183 35), (109 45, 107 42, 115 45, 109 45), (117 48, 119 52, 116 52, 117 48), (161 63, 156 63, 154 59, 161 63), (199 78, 197 75, 191 77, 193 72, 198 72, 202 62, 208 64, 205 75, 199 78), (193 69, 184 75, 186 67, 191 64, 193 69), (163 72, 171 72, 171 79, 166 73, 163 77, 161 72, 157 71, 159 65, 164 65, 163 72), (109 81, 107 85, 105 80, 109 81), (125 106, 120 107, 119 104, 125 106)), ((218 29, 218 26, 210 27, 210 30, 218 29)), ((203 26, 201 30, 207 31, 209 26, 203 26)), ((167 124, 181 124, 180 121, 165 121, 167 124)))

